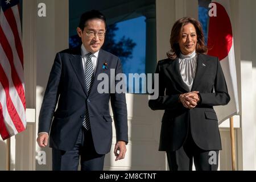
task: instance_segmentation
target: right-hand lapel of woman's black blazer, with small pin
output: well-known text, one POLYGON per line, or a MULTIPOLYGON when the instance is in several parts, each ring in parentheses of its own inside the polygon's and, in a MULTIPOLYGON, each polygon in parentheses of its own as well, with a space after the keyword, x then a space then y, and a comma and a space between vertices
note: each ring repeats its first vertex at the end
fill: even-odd
POLYGON ((203 77, 206 68, 207 68, 207 63, 203 59, 203 56, 199 53, 197 56, 196 75, 195 75, 195 78, 193 81, 191 92, 194 90, 197 91, 196 88, 197 88, 197 86, 200 85, 200 80, 201 80, 200 78, 203 77))

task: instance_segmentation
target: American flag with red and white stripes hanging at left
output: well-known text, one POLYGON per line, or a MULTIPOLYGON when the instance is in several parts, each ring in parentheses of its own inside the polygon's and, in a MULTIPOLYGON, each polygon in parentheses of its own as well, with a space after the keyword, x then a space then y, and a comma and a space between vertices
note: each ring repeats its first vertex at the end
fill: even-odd
POLYGON ((19 0, 0 0, 0 134, 26 129, 26 101, 19 0))

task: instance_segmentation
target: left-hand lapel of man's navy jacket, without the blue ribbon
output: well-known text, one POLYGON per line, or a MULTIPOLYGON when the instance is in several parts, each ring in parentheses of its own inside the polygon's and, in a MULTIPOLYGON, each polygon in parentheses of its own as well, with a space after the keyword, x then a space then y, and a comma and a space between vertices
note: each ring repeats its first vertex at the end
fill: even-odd
POLYGON ((82 90, 84 90, 85 95, 88 96, 88 92, 87 92, 86 84, 85 84, 84 68, 82 67, 81 47, 77 48, 76 52, 74 52, 69 57, 69 60, 71 61, 71 64, 73 66, 73 69, 76 73, 78 80, 80 81, 82 90))

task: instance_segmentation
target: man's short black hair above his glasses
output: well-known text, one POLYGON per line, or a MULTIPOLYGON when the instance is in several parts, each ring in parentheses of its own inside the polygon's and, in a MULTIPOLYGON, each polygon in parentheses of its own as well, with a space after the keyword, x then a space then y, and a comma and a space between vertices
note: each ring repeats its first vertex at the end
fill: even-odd
POLYGON ((82 14, 80 18, 79 28, 84 31, 84 27, 86 27, 86 22, 91 19, 103 20, 106 28, 106 18, 102 13, 100 13, 100 11, 97 10, 86 11, 84 14, 82 14))

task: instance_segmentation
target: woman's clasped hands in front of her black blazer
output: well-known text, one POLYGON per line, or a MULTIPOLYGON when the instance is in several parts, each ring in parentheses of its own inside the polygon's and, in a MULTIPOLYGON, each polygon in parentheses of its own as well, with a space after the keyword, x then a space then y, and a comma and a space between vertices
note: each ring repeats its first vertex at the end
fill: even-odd
POLYGON ((184 107, 188 109, 193 109, 197 106, 197 102, 199 102, 199 92, 193 91, 184 94, 180 94, 179 100, 183 104, 184 107))

